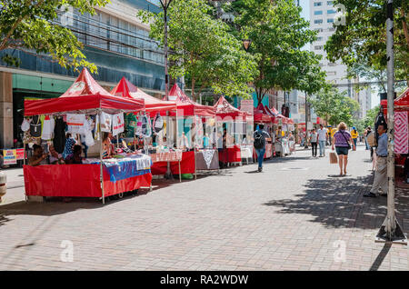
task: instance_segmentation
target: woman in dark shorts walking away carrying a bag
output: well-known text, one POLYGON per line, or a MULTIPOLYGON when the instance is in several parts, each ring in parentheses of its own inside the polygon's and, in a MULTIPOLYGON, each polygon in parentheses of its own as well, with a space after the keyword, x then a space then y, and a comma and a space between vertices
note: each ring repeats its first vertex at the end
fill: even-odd
POLYGON ((351 135, 346 131, 345 123, 342 122, 338 125, 338 131, 334 135, 332 145, 333 151, 335 146, 336 154, 338 154, 340 176, 346 175, 346 165, 348 164, 348 150, 351 148, 350 143, 354 145, 354 141, 351 135))

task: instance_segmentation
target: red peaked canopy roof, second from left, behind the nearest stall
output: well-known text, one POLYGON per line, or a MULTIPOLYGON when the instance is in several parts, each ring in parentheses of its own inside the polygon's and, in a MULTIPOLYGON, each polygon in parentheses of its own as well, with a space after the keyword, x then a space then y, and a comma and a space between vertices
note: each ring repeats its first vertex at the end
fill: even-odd
POLYGON ((175 102, 168 102, 145 94, 141 89, 131 84, 125 77, 111 91, 112 95, 130 99, 143 99, 145 101, 145 111, 155 114, 156 112, 176 109, 175 102))

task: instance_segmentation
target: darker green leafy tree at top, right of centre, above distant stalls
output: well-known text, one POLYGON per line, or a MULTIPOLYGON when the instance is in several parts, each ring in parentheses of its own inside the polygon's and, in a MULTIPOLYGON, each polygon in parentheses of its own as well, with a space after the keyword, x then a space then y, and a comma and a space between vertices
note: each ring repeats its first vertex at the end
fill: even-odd
POLYGON ((235 25, 243 38, 251 39, 249 52, 259 59, 259 73, 253 83, 258 102, 270 89, 286 91, 302 86, 300 81, 307 72, 304 68, 314 65, 318 55, 302 50, 314 41, 316 32, 301 17, 301 7, 292 0, 241 0, 235 7, 235 25))

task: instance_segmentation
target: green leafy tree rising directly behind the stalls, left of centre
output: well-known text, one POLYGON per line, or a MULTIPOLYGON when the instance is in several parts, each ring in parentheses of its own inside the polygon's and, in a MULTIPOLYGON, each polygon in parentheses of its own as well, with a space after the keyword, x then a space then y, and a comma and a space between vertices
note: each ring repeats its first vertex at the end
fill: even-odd
MULTIPOLYGON (((169 5, 169 59, 174 63, 169 75, 185 75, 194 100, 207 87, 214 94, 248 98, 252 91, 248 84, 257 71, 255 57, 245 53, 228 25, 214 19, 212 9, 205 0, 177 0, 169 5)), ((138 15, 150 24, 150 36, 163 45, 163 12, 138 15)))

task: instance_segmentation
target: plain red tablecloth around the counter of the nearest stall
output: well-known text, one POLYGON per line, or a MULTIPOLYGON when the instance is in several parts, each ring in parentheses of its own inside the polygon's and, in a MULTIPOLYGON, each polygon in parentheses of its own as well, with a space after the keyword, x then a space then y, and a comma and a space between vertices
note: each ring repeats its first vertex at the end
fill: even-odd
MULTIPOLYGON (((25 165, 25 194, 41 196, 101 197, 99 164, 25 165)), ((112 183, 104 171, 105 196, 149 187, 152 174, 142 174, 112 183)))

